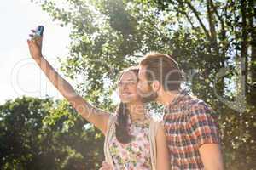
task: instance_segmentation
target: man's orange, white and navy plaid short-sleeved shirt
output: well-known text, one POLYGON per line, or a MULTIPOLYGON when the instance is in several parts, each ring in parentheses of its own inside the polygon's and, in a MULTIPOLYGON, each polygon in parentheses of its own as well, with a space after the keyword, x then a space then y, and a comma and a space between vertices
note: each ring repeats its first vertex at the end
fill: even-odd
POLYGON ((204 169, 199 148, 220 144, 212 109, 200 99, 182 92, 165 108, 164 127, 172 170, 204 169))

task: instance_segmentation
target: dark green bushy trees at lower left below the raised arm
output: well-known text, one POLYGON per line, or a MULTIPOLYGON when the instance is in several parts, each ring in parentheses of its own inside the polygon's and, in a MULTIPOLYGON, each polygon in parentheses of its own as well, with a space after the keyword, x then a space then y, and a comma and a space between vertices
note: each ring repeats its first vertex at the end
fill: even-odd
POLYGON ((65 100, 9 100, 0 105, 0 169, 98 169, 103 138, 88 125, 65 100))

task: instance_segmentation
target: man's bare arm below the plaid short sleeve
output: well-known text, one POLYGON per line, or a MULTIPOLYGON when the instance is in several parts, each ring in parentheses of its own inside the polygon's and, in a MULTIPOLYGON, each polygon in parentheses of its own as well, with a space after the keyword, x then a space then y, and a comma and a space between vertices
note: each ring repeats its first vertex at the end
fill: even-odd
POLYGON ((199 152, 206 170, 224 169, 219 144, 202 144, 199 152))

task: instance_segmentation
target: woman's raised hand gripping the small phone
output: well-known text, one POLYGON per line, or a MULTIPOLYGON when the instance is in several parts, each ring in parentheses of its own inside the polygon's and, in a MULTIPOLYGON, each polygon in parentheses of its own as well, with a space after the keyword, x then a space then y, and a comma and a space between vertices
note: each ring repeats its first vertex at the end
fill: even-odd
POLYGON ((29 35, 32 38, 27 40, 27 44, 32 58, 40 59, 42 57, 43 36, 35 36, 34 32, 32 30, 32 34, 29 35))

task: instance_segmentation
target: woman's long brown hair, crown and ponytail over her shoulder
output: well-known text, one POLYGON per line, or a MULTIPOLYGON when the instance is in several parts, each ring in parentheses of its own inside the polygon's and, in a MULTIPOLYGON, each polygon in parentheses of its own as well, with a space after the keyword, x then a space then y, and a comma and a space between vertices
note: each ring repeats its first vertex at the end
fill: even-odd
MULTIPOLYGON (((139 69, 136 66, 132 66, 125 69, 124 71, 121 72, 119 76, 119 80, 122 77, 122 75, 127 71, 132 71, 136 75, 138 75, 139 69)), ((127 128, 128 114, 129 114, 129 110, 127 108, 127 105, 123 102, 120 102, 116 110, 117 122, 115 123, 115 135, 116 135, 116 138, 119 140, 119 142, 122 144, 130 143, 131 139, 133 138, 133 136, 129 133, 127 128)))

